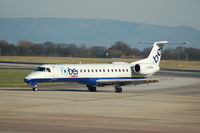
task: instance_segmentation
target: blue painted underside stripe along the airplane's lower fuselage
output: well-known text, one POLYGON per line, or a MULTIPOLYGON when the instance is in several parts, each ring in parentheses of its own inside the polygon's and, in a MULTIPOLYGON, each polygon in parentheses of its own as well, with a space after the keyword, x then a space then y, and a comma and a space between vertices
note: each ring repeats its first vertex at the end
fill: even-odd
POLYGON ((37 78, 37 79, 24 79, 28 84, 37 84, 40 82, 79 82, 84 84, 96 85, 99 79, 144 79, 144 77, 106 77, 106 78, 37 78))

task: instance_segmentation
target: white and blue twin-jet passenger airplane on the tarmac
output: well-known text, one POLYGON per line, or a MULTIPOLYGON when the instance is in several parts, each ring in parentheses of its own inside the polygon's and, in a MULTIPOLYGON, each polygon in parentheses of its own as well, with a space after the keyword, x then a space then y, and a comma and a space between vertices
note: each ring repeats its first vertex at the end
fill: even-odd
POLYGON ((33 91, 38 90, 38 83, 41 82, 77 82, 85 84, 90 92, 95 92, 96 87, 113 85, 114 92, 121 93, 121 86, 159 81, 159 78, 149 77, 160 70, 159 63, 165 44, 168 41, 154 42, 147 58, 132 63, 41 65, 25 77, 24 82, 32 85, 33 91))

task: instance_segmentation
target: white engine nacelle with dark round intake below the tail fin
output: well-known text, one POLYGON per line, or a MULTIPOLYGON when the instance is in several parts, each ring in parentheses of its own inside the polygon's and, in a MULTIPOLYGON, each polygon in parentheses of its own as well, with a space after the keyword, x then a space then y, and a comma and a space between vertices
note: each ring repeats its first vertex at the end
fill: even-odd
POLYGON ((160 67, 154 64, 136 64, 131 67, 131 70, 135 74, 148 75, 159 71, 160 67))

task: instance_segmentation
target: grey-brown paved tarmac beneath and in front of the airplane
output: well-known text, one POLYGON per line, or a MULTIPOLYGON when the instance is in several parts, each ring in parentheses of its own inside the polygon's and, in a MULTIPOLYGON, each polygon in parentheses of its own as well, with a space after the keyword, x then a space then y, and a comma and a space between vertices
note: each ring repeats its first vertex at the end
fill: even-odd
POLYGON ((199 133, 200 73, 160 71, 158 83, 88 92, 76 83, 0 87, 0 133, 199 133))

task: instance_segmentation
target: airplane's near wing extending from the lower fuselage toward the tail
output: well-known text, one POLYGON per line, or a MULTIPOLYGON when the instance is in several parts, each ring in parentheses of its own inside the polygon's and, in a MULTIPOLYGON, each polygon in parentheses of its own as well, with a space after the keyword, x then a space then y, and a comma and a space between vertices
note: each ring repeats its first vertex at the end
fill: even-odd
POLYGON ((127 84, 148 84, 148 83, 155 83, 159 82, 159 80, 169 80, 169 79, 161 79, 161 78, 145 78, 145 79, 98 79, 96 83, 99 85, 111 85, 111 84, 120 84, 120 85, 127 85, 127 84))

